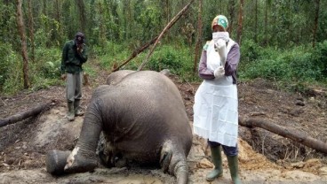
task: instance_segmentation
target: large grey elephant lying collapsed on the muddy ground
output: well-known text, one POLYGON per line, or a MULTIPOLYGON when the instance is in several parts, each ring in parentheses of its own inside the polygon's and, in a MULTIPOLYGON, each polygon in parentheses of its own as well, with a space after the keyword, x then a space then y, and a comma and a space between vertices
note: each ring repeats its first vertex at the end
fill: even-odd
POLYGON ((92 171, 97 152, 105 165, 157 165, 184 184, 192 138, 179 89, 167 76, 117 71, 93 91, 75 148, 48 152, 47 172, 92 171))

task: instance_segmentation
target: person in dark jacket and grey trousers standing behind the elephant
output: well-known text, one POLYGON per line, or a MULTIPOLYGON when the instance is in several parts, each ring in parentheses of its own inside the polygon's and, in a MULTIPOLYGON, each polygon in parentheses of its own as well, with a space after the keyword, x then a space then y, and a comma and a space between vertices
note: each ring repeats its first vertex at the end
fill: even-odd
POLYGON ((87 61, 87 47, 84 43, 85 37, 81 32, 76 33, 74 40, 65 43, 61 58, 61 79, 67 80, 66 95, 68 101, 69 121, 75 116, 84 115, 80 103, 82 99, 82 65, 87 61))

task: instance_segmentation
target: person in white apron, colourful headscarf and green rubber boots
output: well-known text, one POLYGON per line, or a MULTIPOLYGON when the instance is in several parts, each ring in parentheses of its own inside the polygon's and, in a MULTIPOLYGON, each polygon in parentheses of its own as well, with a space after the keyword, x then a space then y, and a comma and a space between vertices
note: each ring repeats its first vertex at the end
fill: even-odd
POLYGON ((212 40, 203 47, 199 76, 203 82, 195 93, 194 133, 208 140, 214 169, 206 180, 222 176, 221 147, 234 183, 238 176, 238 98, 236 69, 240 59, 239 45, 229 38, 228 21, 223 15, 211 23, 212 40))

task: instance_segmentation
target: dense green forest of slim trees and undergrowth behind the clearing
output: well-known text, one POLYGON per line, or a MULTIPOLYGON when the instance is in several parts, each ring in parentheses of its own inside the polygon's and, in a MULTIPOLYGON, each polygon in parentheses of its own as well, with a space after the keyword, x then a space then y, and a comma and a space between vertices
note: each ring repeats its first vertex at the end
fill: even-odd
MULTIPOLYGON (((64 85, 61 49, 78 31, 90 49, 85 73, 97 75, 94 65, 109 73, 190 2, 144 69, 167 68, 181 80, 200 81, 196 67, 211 40, 211 19, 223 14, 241 46, 240 81, 263 78, 299 92, 327 86, 327 1, 2 0, 0 94, 64 85)), ((146 57, 144 51, 122 69, 137 70, 146 57)))

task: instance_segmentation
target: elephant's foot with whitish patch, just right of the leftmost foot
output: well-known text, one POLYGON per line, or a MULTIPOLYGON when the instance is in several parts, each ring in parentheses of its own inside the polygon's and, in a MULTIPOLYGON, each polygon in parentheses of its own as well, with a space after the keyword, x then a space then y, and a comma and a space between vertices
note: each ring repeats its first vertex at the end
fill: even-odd
POLYGON ((84 173, 92 171, 98 165, 97 159, 92 154, 81 154, 79 147, 72 150, 65 165, 66 173, 84 173), (85 157, 87 155, 88 157, 85 157))

